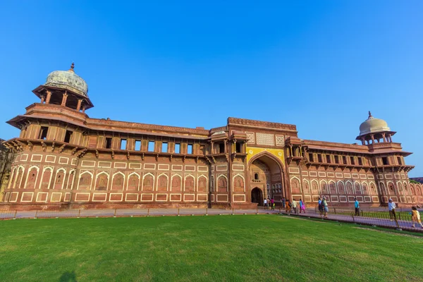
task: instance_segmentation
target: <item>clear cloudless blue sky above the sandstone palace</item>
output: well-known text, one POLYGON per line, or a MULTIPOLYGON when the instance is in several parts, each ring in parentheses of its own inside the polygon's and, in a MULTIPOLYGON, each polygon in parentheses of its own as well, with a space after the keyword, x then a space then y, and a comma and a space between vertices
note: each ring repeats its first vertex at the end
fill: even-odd
POLYGON ((423 176, 422 14, 423 1, 1 1, 0 137, 74 61, 94 118, 234 116, 353 143, 370 110, 423 176))

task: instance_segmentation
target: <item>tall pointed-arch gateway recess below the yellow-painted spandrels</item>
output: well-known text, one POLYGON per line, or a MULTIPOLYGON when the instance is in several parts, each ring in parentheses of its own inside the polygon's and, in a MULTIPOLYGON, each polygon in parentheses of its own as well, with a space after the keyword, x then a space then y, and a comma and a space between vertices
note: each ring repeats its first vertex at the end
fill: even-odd
POLYGON ((273 154, 260 152, 248 162, 248 188, 250 201, 263 204, 264 198, 274 198, 279 201, 286 197, 284 185, 283 164, 273 154))

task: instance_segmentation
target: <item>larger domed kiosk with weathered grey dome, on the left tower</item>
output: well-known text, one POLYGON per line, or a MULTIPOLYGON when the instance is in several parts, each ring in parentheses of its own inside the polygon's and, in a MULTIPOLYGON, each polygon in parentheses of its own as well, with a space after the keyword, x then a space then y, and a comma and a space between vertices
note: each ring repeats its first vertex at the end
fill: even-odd
POLYGON ((72 63, 68 71, 53 71, 47 76, 44 85, 32 90, 41 99, 41 104, 57 104, 76 111, 85 111, 94 105, 88 97, 88 85, 73 70, 72 63))

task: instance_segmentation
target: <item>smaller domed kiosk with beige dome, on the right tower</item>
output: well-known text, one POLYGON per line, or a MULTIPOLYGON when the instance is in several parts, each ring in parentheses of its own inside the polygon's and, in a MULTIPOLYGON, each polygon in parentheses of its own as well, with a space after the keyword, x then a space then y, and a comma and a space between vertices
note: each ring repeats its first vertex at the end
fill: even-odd
POLYGON ((362 145, 369 145, 375 142, 392 142, 392 135, 396 132, 391 131, 388 123, 380 118, 374 118, 369 111, 369 118, 360 125, 360 135, 356 140, 361 140, 362 145))

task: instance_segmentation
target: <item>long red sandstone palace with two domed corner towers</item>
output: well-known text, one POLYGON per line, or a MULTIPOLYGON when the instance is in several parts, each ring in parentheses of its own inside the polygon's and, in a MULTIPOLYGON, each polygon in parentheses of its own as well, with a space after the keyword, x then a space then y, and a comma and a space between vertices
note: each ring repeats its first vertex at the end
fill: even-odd
POLYGON ((4 142, 16 156, 2 191, 10 208, 236 208, 267 197, 314 204, 319 195, 331 205, 423 202, 423 186, 407 176, 411 153, 370 113, 361 145, 351 145, 242 118, 210 130, 90 118, 87 83, 73 64, 32 92, 39 102, 8 121, 20 136, 4 142))

